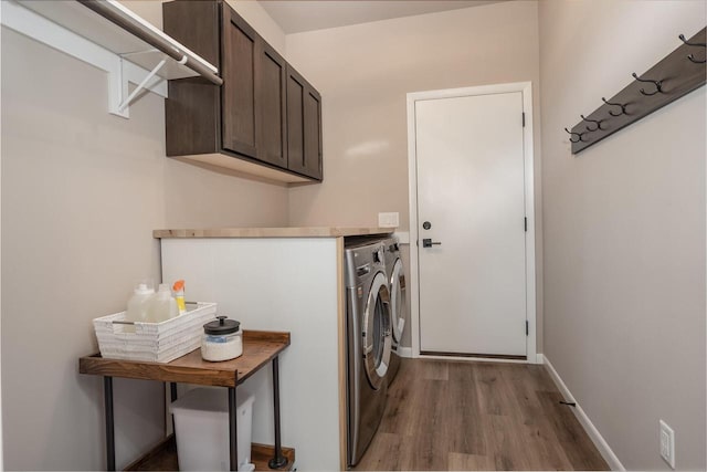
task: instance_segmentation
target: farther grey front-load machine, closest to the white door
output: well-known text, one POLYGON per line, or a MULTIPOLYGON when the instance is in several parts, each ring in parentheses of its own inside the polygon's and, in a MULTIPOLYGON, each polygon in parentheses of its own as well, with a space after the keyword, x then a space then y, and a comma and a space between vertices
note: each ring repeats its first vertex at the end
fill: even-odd
POLYGON ((392 318, 392 346, 390 367, 388 369, 388 385, 390 385, 400 369, 398 349, 405 328, 405 273, 400 258, 398 240, 389 238, 382 241, 386 247, 386 275, 390 287, 390 311, 392 318))

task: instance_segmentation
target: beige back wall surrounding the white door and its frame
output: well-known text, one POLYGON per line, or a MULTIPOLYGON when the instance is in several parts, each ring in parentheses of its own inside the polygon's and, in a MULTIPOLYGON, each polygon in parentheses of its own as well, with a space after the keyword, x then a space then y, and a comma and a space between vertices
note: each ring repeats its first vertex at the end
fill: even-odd
MULTIPOLYGON (((400 229, 407 231, 407 94, 530 81, 536 85, 536 256, 541 280, 538 57, 535 1, 288 34, 287 60, 321 93, 325 156, 324 182, 291 190, 289 223, 374 227, 379 211, 397 211, 400 229)), ((537 313, 541 326, 541 296, 537 313)), ((403 345, 410 346, 410 329, 405 332, 403 345)), ((538 328, 542 352, 540 333, 538 328)))

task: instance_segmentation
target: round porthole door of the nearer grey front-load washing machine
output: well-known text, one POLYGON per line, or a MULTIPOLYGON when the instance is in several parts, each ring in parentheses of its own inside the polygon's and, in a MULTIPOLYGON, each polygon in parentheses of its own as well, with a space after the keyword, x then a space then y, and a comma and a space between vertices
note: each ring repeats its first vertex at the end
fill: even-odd
POLYGON ((386 274, 382 272, 373 277, 362 325, 366 376, 371 387, 378 390, 386 379, 391 350, 390 292, 386 274))

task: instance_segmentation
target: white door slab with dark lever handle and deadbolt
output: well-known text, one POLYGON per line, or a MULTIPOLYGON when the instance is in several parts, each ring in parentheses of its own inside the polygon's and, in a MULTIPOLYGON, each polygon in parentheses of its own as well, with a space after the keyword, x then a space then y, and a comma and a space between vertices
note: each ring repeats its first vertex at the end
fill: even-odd
POLYGON ((420 350, 526 356, 523 93, 416 101, 414 119, 420 350))

